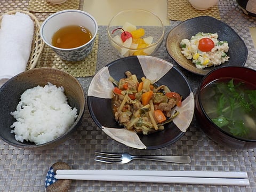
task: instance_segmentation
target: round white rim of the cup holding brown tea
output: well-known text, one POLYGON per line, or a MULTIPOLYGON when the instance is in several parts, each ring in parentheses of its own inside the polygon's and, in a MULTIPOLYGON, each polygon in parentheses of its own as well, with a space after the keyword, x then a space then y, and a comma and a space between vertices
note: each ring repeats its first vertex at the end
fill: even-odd
POLYGON ((94 17, 92 17, 91 14, 87 13, 87 12, 84 12, 84 11, 81 11, 81 10, 62 10, 62 11, 59 11, 59 12, 56 12, 56 13, 53 13, 52 15, 50 15, 49 17, 47 17, 44 22, 42 23, 41 25, 41 29, 40 29, 40 34, 41 34, 41 38, 43 39, 43 41, 49 45, 50 47, 53 47, 54 49, 57 49, 57 50, 65 50, 65 51, 68 51, 68 50, 76 50, 76 49, 79 49, 80 47, 83 47, 83 46, 86 46, 87 44, 91 43, 92 41, 94 41, 94 38, 96 37, 98 33, 98 24, 97 24, 97 21, 94 19, 94 17), (92 36, 91 40, 81 46, 78 46, 78 47, 74 47, 74 48, 70 48, 70 49, 62 49, 62 48, 59 48, 59 47, 55 47, 53 46, 52 44, 50 44, 49 42, 46 41, 45 37, 44 37, 44 34, 43 34, 43 30, 44 30, 44 27, 46 25, 46 23, 53 17, 56 17, 62 13, 68 13, 68 12, 77 12, 77 13, 82 13, 82 14, 85 14, 87 15, 88 17, 90 17, 91 20, 93 20, 94 22, 94 25, 95 25, 95 33, 94 35, 92 36))

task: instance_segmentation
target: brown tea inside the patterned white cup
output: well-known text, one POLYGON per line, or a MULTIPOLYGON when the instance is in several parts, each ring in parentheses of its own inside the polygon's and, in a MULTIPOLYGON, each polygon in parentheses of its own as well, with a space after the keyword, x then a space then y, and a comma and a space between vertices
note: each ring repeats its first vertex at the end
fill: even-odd
POLYGON ((83 26, 70 25, 57 30, 52 36, 52 45, 62 49, 71 49, 92 39, 91 32, 83 26))

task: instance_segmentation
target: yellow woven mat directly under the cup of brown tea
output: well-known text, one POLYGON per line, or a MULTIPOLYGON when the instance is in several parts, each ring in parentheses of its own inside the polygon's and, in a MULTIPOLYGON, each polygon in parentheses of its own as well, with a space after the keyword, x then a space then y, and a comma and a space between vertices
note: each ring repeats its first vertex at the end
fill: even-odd
POLYGON ((91 54, 84 60, 69 62, 61 60, 48 45, 44 46, 41 58, 35 68, 52 67, 66 71, 74 77, 89 77, 95 75, 98 57, 99 35, 97 34, 91 54))

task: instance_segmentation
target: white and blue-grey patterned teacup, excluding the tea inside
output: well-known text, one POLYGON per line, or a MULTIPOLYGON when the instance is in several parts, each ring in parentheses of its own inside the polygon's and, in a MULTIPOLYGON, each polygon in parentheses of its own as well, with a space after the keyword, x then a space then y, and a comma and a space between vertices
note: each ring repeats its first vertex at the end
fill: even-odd
POLYGON ((80 61, 85 59, 92 52, 97 33, 97 21, 91 14, 81 10, 63 10, 53 13, 44 20, 40 29, 40 34, 45 44, 50 46, 61 59, 66 61, 80 61), (53 46, 52 36, 55 32, 62 27, 70 25, 83 26, 88 29, 92 34, 91 40, 84 45, 71 49, 61 49, 53 46))

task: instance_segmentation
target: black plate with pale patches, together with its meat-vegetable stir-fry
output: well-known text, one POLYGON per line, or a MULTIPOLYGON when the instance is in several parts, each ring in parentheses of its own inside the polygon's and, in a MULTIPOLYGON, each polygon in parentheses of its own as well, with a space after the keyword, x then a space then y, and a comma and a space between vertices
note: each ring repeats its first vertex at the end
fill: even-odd
POLYGON ((148 55, 117 59, 93 77, 87 105, 110 138, 135 149, 178 141, 194 115, 194 94, 172 63, 148 55))

